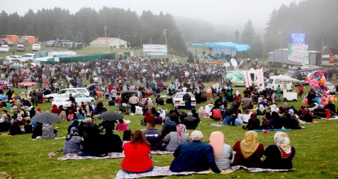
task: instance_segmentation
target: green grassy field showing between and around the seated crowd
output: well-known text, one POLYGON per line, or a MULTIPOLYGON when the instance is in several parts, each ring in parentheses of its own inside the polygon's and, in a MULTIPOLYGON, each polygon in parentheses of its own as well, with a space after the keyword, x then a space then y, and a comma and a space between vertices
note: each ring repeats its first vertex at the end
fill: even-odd
MULTIPOLYGON (((19 92, 19 89, 14 89, 19 92)), ((243 91, 242 88, 235 90, 243 91)), ((302 103, 289 102, 299 108, 302 103)), ((212 102, 212 101, 208 101, 212 102)), ((108 101, 105 101, 107 104, 108 101)), ((198 104, 197 109, 205 104, 198 104)), ((51 108, 51 103, 39 104, 43 111, 51 108)), ((165 104, 163 107, 171 109, 171 104, 165 104)), ((108 107, 108 110, 118 110, 117 107, 108 107)), ((181 109, 185 110, 185 109, 181 109)), ((145 127, 139 124, 141 115, 125 116, 124 119, 131 120, 128 124, 131 130, 145 127)), ((96 120, 99 123, 101 120, 96 120)), ((317 120, 318 121, 318 120, 317 120)), ((319 120, 323 121, 323 120, 319 120)), ((237 140, 244 137, 245 131, 241 126, 236 127, 209 127, 208 123, 215 123, 212 119, 202 119, 198 129, 204 134, 204 141, 208 142, 212 131, 222 131, 225 136, 225 143, 233 146, 237 140)), ((67 128, 71 122, 61 122, 53 124, 59 127, 58 137, 67 135, 67 128)), ((337 178, 337 144, 335 143, 335 134, 337 132, 338 121, 327 121, 317 124, 303 124, 307 128, 304 130, 287 131, 291 145, 296 149, 296 155, 293 159, 293 172, 269 172, 269 173, 248 173, 245 170, 233 172, 228 175, 208 174, 208 175, 189 175, 189 176, 168 176, 165 178, 337 178)), ((160 129, 160 127, 157 127, 160 129)), ((192 131, 188 131, 191 133, 192 131)), ((121 132, 115 132, 122 137, 121 132)), ((259 141, 267 147, 273 144, 274 132, 258 132, 259 141)), ((64 140, 28 140, 30 134, 18 136, 0 137, 0 171, 9 173, 13 178, 114 178, 120 169, 122 159, 104 159, 104 160, 75 160, 75 161, 57 161, 57 158, 63 156, 58 154, 54 158, 48 158, 48 153, 64 147, 64 140)), ((173 161, 172 154, 154 155, 153 162, 155 166, 168 166, 173 161)))

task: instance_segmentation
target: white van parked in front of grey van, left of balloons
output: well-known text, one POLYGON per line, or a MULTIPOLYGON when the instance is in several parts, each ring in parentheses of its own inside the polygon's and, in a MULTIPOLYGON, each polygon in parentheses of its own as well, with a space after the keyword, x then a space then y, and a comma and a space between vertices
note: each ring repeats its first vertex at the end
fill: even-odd
POLYGON ((269 81, 267 83, 268 88, 272 88, 274 90, 277 89, 278 85, 281 85, 281 89, 283 92, 291 92, 294 87, 294 83, 300 83, 301 81, 298 79, 291 78, 289 76, 270 76, 269 81))

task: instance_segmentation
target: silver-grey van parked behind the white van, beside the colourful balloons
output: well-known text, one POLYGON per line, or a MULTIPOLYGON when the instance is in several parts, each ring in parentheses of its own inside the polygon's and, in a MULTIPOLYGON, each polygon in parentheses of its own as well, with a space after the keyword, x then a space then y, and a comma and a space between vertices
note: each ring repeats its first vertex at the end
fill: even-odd
POLYGON ((313 71, 323 70, 320 66, 304 65, 304 66, 292 66, 292 68, 284 75, 290 78, 298 80, 305 80, 309 73, 313 71))

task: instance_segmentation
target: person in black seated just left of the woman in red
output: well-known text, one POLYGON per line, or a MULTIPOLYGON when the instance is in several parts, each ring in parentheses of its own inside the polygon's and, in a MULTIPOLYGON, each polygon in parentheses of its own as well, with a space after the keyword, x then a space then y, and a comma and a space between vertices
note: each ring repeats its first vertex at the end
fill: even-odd
POLYGON ((113 130, 114 127, 112 125, 105 126, 103 143, 105 144, 105 147, 107 147, 108 152, 122 152, 123 149, 121 138, 118 135, 114 134, 113 130))

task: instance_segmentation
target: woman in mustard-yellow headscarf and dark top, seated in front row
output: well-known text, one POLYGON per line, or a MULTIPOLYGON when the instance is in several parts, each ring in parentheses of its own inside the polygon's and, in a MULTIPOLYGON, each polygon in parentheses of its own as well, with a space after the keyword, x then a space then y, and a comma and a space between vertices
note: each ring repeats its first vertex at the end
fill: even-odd
POLYGON ((245 132, 244 140, 237 141, 233 150, 236 151, 233 166, 242 165, 248 168, 262 166, 264 146, 258 142, 257 132, 252 130, 245 132))

